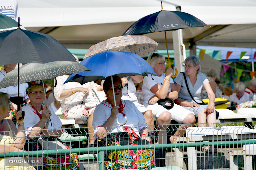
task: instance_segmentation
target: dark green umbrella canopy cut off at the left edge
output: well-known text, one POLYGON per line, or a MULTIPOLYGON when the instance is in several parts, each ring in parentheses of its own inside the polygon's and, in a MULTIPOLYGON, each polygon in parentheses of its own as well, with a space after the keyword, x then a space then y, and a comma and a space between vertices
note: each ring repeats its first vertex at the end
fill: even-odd
MULTIPOLYGON (((23 26, 20 25, 22 29, 25 29, 23 26)), ((17 29, 18 22, 12 19, 9 16, 0 14, 0 31, 5 31, 9 29, 17 29)))

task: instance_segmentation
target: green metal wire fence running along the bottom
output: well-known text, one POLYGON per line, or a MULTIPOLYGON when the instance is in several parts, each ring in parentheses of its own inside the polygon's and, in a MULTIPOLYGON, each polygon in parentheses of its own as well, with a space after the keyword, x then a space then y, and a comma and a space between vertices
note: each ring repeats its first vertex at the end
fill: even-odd
POLYGON ((51 136, 37 137, 33 140, 28 140, 27 137, 24 145, 26 151, 18 150, 20 152, 15 150, 17 144, 15 145, 15 141, 11 140, 9 132, 5 133, 6 136, 2 132, 0 169, 13 169, 11 166, 17 165, 23 170, 31 165, 35 169, 62 170, 78 168, 102 170, 111 167, 254 170, 256 166, 254 125, 254 122, 249 124, 234 122, 217 124, 217 128, 210 128, 195 124, 188 127, 183 136, 175 136, 174 144, 170 143, 169 138, 180 125, 168 125, 162 136, 162 144, 157 143, 160 130, 155 125, 155 133, 151 134, 150 143, 143 143, 140 137, 133 138, 134 135, 131 137, 129 134, 119 133, 117 136, 108 135, 107 138, 96 139, 91 147, 88 147, 90 133, 86 127, 65 128, 66 132, 60 134, 57 140, 51 136), (117 141, 113 141, 114 139, 117 141))

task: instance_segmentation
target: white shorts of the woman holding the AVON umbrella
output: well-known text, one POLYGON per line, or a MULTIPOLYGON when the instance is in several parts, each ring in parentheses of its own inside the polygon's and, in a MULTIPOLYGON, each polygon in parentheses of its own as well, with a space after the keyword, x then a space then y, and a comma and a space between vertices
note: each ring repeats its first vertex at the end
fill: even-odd
MULTIPOLYGON (((163 106, 158 105, 157 103, 154 105, 149 105, 147 103, 143 103, 143 105, 152 111, 154 117, 158 118, 159 115, 164 112, 164 111, 168 111, 169 113, 171 113, 172 116, 172 120, 175 120, 178 123, 182 123, 183 120, 185 119, 185 117, 190 114, 193 113, 192 111, 189 111, 185 108, 183 108, 180 105, 174 104, 173 108, 170 110, 165 109, 163 106)), ((194 114, 194 113, 193 113, 194 114)))

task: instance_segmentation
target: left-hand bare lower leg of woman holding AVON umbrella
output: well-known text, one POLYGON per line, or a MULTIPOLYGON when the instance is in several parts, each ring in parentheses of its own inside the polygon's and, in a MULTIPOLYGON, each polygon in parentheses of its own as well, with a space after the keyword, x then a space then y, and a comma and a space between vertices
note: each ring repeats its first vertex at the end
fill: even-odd
POLYGON ((171 113, 169 113, 168 111, 164 111, 162 112, 158 119, 157 119, 157 141, 158 144, 162 144, 163 143, 163 133, 164 130, 166 130, 168 128, 168 126, 170 125, 172 120, 172 116, 171 113))

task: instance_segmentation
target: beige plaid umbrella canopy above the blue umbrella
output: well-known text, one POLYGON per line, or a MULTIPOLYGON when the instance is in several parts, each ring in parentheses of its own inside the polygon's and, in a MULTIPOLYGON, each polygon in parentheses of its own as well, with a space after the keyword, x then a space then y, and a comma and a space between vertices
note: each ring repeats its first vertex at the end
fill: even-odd
POLYGON ((158 43, 147 36, 120 36, 99 42, 89 48, 84 59, 104 51, 124 51, 140 57, 157 52, 158 43))

